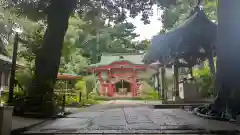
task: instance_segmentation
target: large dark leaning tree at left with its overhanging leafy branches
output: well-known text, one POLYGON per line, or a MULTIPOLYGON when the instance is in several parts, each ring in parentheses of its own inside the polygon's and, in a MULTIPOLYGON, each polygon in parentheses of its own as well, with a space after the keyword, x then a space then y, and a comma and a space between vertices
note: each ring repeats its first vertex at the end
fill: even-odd
POLYGON ((32 94, 40 95, 39 102, 42 102, 43 98, 45 101, 52 98, 64 36, 73 12, 79 13, 86 20, 94 20, 101 16, 110 21, 121 22, 126 19, 127 10, 129 10, 131 17, 141 12, 142 20, 148 23, 148 14, 153 0, 12 0, 5 4, 10 8, 13 7, 14 11, 27 15, 30 19, 46 19, 47 29, 43 44, 36 54, 35 77, 31 88, 32 94))

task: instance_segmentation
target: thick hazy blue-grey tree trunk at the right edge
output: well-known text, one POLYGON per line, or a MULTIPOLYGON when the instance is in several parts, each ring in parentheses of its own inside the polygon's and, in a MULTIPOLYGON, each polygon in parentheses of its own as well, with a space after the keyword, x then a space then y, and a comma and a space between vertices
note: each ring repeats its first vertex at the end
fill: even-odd
POLYGON ((240 113, 240 0, 218 0, 217 72, 218 96, 200 113, 216 117, 234 118, 240 113), (206 111, 207 110, 207 111, 206 111), (227 113, 225 113, 227 112, 227 113))

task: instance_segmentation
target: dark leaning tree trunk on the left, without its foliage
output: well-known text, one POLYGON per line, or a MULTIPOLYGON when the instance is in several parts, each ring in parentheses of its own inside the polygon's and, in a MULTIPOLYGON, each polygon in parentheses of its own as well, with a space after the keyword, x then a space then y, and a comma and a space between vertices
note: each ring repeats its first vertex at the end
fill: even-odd
POLYGON ((48 26, 42 48, 36 54, 35 76, 29 93, 30 97, 39 97, 44 108, 46 102, 52 101, 64 36, 75 5, 76 0, 55 0, 47 10, 48 26))

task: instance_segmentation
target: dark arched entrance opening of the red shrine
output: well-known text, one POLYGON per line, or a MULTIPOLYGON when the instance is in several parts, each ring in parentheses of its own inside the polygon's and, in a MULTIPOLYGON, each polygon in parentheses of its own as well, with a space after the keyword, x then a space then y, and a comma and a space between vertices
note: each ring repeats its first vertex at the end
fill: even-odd
POLYGON ((120 80, 115 84, 116 86, 116 94, 119 96, 128 96, 131 95, 131 83, 120 80))

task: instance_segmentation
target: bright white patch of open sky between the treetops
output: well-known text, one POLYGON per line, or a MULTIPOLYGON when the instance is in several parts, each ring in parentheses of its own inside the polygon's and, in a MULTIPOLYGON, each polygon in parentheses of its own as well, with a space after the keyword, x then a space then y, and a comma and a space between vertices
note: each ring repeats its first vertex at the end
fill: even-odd
POLYGON ((133 23, 136 26, 135 32, 139 34, 140 36, 136 38, 136 40, 144 40, 144 39, 151 39, 152 36, 156 35, 158 32, 160 32, 162 23, 160 18, 162 14, 162 10, 158 10, 157 6, 153 6, 153 16, 150 17, 150 24, 143 24, 143 22, 140 20, 141 15, 137 16, 136 18, 127 18, 128 22, 133 23))

